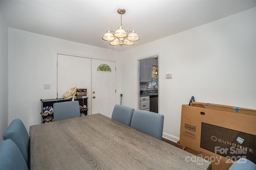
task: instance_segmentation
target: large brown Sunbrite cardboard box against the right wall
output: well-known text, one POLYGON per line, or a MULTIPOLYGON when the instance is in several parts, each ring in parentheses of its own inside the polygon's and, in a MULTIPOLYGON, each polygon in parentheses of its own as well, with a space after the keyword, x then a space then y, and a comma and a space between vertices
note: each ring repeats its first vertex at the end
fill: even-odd
POLYGON ((256 110, 182 105, 179 145, 210 159, 213 169, 228 169, 241 157, 256 163, 256 110))

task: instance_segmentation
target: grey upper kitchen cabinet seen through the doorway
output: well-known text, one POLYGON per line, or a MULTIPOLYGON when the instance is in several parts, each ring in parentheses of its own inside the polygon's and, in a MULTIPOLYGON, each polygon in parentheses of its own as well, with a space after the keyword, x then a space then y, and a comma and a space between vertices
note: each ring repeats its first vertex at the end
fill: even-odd
POLYGON ((140 82, 151 82, 152 58, 140 60, 140 82))

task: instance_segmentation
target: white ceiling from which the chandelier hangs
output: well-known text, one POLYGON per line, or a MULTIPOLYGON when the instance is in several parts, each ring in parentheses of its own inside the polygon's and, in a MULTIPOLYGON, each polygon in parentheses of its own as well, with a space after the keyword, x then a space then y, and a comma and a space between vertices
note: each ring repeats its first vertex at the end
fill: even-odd
POLYGON ((8 27, 124 51, 256 6, 256 0, 1 0, 8 27), (119 27, 140 37, 132 46, 111 46, 102 36, 119 27))

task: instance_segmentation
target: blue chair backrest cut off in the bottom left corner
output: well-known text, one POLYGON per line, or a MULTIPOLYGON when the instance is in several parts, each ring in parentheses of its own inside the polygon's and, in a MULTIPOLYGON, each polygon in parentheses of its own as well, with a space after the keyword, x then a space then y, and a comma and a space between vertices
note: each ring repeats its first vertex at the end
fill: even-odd
POLYGON ((28 170, 28 165, 18 146, 11 139, 0 143, 1 170, 28 170))

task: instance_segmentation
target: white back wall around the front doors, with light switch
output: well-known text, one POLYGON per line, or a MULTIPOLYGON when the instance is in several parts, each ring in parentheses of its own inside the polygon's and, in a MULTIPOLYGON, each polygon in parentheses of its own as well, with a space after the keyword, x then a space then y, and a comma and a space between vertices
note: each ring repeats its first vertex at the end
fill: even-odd
MULTIPOLYGON (((117 61, 120 52, 72 41, 9 28, 9 100, 8 124, 20 118, 29 131, 41 123, 40 99, 56 98, 54 94, 54 53, 67 51, 95 59, 117 61), (44 90, 44 84, 51 84, 44 90)), ((70 63, 76 69, 79 63, 70 63)), ((2 84, 2 82, 1 82, 2 84)))

